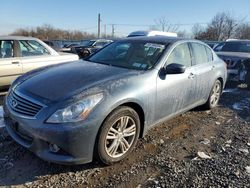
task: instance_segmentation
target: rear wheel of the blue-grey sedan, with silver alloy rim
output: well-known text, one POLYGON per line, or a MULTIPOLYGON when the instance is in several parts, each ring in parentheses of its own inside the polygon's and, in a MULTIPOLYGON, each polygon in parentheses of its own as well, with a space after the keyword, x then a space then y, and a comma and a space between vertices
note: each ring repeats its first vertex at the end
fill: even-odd
POLYGON ((203 107, 206 110, 210 110, 217 106, 220 100, 221 91, 222 91, 221 82, 220 80, 216 80, 212 88, 212 91, 209 94, 207 102, 203 105, 203 107))

